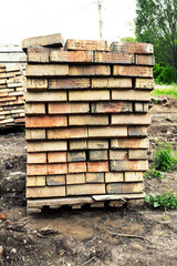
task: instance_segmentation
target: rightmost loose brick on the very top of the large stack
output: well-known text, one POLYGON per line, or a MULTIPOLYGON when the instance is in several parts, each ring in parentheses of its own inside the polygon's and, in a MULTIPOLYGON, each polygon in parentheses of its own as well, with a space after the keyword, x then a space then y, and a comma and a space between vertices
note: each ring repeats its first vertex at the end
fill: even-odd
POLYGON ((110 50, 115 53, 154 53, 153 44, 142 42, 113 42, 110 50))

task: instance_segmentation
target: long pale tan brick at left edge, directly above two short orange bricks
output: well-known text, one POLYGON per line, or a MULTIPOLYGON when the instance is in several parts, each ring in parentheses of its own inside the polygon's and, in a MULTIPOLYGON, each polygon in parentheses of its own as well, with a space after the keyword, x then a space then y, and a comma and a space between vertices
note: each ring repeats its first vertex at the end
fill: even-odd
POLYGON ((28 152, 66 151, 66 141, 28 142, 27 150, 28 150, 28 152))

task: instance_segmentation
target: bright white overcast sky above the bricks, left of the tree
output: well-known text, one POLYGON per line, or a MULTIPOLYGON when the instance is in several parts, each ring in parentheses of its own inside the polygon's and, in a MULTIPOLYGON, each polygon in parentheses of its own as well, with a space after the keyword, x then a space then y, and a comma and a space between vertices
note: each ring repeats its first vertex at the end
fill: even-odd
MULTIPOLYGON (((100 0, 103 40, 134 37, 136 0, 100 0)), ((98 0, 0 0, 0 43, 61 33, 64 40, 98 40, 98 0)))

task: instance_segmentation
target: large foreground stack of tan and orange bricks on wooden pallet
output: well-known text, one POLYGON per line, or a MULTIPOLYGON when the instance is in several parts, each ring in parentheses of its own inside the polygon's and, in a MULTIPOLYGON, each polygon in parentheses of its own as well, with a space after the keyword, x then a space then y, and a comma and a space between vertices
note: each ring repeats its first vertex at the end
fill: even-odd
POLYGON ((25 39, 29 212, 142 198, 153 45, 25 39), (64 48, 63 48, 64 47, 64 48))

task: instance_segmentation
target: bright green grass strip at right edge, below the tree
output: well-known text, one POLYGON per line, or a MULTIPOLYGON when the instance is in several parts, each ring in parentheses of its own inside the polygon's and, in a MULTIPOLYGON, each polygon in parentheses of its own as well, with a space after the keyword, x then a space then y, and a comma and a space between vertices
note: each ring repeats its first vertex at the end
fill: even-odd
POLYGON ((155 89, 150 93, 153 96, 159 95, 168 95, 177 99, 177 84, 171 85, 157 85, 155 84, 155 89))

